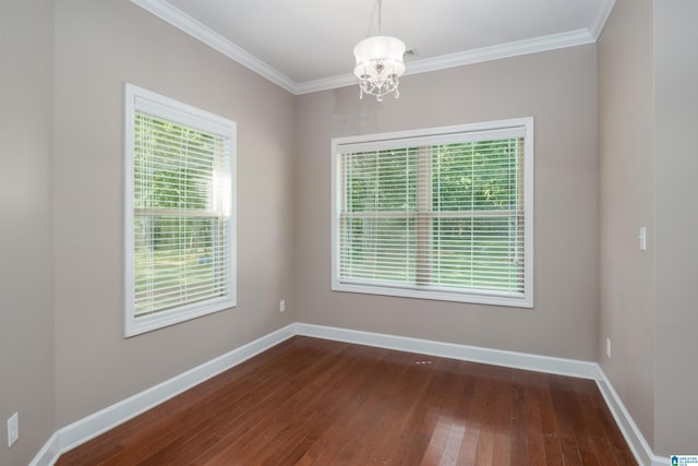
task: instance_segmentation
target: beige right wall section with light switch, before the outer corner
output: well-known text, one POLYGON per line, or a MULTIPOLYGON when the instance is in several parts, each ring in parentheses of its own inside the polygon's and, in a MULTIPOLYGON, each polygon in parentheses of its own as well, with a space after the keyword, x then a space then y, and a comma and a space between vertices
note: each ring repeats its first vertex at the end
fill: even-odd
POLYGON ((617 0, 598 43, 600 318, 598 357, 653 442, 654 228, 652 1, 617 0), (638 235, 647 228, 648 248, 638 235), (611 358, 605 339, 611 338, 611 358))

